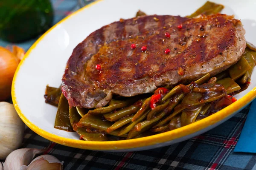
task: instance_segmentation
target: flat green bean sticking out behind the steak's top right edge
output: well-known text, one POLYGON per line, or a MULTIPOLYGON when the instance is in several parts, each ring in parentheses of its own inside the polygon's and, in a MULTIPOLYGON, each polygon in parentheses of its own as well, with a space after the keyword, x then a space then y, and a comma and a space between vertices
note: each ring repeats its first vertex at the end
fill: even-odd
POLYGON ((212 3, 212 2, 207 1, 203 6, 198 8, 198 10, 196 10, 193 14, 186 16, 186 17, 192 18, 192 17, 196 17, 200 14, 205 14, 205 15, 217 14, 223 8, 224 8, 224 6, 221 4, 212 3))

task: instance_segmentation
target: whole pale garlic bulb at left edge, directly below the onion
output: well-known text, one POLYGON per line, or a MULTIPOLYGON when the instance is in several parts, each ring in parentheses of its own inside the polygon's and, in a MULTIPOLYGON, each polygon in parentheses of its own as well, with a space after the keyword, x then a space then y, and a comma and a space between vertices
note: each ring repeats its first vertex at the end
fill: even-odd
POLYGON ((23 140, 24 123, 15 108, 8 102, 0 102, 0 159, 20 147, 23 140))

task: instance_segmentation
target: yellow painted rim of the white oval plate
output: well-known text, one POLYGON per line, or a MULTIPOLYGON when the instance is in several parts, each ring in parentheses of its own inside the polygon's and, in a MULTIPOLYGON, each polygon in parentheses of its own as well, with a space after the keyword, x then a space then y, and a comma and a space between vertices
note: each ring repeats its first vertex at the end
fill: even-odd
MULTIPOLYGON (((192 123, 190 125, 180 127, 175 130, 171 130, 165 133, 160 133, 152 136, 147 136, 143 138, 138 139, 129 139, 129 140, 120 140, 120 141, 105 141, 105 142, 95 142, 95 141, 82 141, 77 139, 69 139, 65 137, 61 137, 52 133, 49 133, 45 130, 42 130, 38 126, 34 125, 32 122, 29 121, 29 119, 24 116, 24 114, 21 112, 19 105, 17 104, 16 94, 15 94, 15 82, 17 79, 17 73, 20 70, 20 67, 23 65, 23 62, 26 60, 27 57, 29 57, 30 52, 32 49, 36 47, 36 45, 56 26, 67 20, 69 17, 74 16, 78 14, 80 11, 89 8, 90 6, 93 6, 96 3, 99 3, 102 0, 95 1, 93 3, 90 3, 87 6, 84 6, 83 8, 80 8, 79 10, 75 11, 74 13, 70 14, 69 16, 65 17, 58 23, 56 23, 52 28, 50 28, 47 32, 45 32, 36 42, 29 48, 29 50, 26 52, 23 59, 20 61, 20 64, 18 65, 15 75, 12 81, 12 101, 15 106, 15 109, 20 116, 20 118, 23 120, 23 122, 32 129, 35 133, 38 135, 52 141, 56 142, 58 144, 63 144, 70 147, 76 147, 81 149, 90 149, 90 150, 127 150, 137 147, 147 147, 155 144, 160 144, 163 142, 172 141, 178 138, 185 137, 187 135, 190 135, 192 133, 196 133, 206 127, 209 127, 211 125, 214 125, 215 123, 225 119, 228 116, 231 116, 236 111, 239 111, 239 109, 243 108, 247 104, 249 104, 255 97, 256 97, 256 87, 253 88, 250 92, 248 92, 246 95, 244 95, 241 99, 237 100, 235 103, 227 106, 226 108, 222 109, 221 111, 218 111, 217 113, 208 116, 204 119, 201 119, 198 122, 192 123)), ((139 148, 138 148, 139 149, 139 148)))

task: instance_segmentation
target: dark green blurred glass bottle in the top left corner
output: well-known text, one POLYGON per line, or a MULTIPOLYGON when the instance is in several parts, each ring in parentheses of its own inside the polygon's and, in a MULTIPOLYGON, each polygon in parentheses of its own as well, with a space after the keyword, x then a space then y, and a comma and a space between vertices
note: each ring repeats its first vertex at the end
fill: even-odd
POLYGON ((22 42, 52 26, 50 0, 3 0, 0 3, 0 39, 22 42))

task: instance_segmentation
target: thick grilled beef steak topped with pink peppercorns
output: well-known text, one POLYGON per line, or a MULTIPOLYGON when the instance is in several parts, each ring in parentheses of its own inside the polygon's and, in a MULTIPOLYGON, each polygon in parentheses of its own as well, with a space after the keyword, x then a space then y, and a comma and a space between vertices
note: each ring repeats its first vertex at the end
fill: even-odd
POLYGON ((76 46, 62 78, 62 92, 71 106, 97 108, 113 94, 135 96, 215 75, 240 59, 246 47, 244 33, 241 22, 225 14, 121 19, 76 46))

